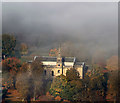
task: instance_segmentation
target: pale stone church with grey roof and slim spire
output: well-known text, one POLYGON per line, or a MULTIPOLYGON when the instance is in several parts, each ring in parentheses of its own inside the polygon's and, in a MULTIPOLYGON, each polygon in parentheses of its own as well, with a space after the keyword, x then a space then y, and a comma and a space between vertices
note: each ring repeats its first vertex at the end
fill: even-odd
POLYGON ((76 57, 62 57, 59 48, 58 56, 35 56, 34 60, 41 60, 44 65, 44 75, 46 79, 53 79, 61 74, 66 76, 67 70, 75 68, 79 72, 80 79, 84 78, 85 63, 78 62, 76 57))

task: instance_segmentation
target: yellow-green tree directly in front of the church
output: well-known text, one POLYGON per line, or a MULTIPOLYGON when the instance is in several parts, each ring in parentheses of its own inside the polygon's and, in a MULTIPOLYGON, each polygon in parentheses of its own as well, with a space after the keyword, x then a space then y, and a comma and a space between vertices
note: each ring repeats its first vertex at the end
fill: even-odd
POLYGON ((50 93, 53 96, 60 96, 62 99, 73 101, 73 96, 81 92, 83 89, 83 82, 80 80, 75 69, 68 71, 68 75, 60 75, 53 80, 51 84, 50 93), (70 74, 73 73, 73 77, 70 74))

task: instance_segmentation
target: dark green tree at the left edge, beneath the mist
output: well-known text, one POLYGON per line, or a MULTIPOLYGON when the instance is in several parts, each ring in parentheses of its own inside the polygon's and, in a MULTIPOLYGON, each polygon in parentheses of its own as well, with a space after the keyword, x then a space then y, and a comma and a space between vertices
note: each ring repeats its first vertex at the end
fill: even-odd
POLYGON ((16 38, 13 35, 2 35, 2 58, 12 57, 15 55, 14 48, 16 46, 16 38))

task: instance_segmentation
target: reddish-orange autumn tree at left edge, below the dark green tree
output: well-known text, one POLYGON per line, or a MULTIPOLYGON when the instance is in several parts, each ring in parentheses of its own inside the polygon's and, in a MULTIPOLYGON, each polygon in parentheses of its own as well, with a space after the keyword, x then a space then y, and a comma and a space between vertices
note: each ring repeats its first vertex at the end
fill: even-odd
MULTIPOLYGON (((6 82, 13 81, 14 88, 16 82, 16 75, 20 71, 20 67, 21 61, 15 57, 2 60, 3 78, 5 79, 7 76, 8 78, 5 79, 6 82)), ((10 82, 10 84, 12 83, 10 82)))

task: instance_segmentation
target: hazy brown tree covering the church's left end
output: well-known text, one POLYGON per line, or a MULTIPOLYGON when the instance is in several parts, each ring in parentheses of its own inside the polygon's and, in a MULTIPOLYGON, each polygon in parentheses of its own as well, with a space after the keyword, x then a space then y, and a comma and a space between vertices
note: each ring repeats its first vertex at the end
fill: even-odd
POLYGON ((35 60, 32 63, 24 63, 17 76, 17 90, 24 100, 34 100, 43 93, 43 65, 35 60), (25 86, 24 86, 25 85, 25 86))

